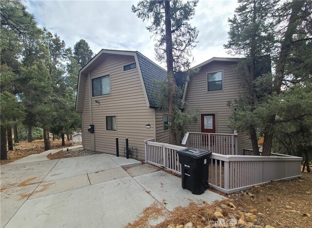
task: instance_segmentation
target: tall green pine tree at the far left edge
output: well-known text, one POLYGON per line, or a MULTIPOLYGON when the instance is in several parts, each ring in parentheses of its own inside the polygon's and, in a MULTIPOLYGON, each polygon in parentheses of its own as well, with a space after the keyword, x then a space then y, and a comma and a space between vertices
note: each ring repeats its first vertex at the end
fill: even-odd
POLYGON ((19 96, 23 80, 20 78, 20 68, 22 66, 20 58, 22 56, 21 39, 25 35, 30 35, 37 29, 34 16, 26 11, 26 8, 18 0, 7 0, 0 2, 0 33, 1 33, 1 159, 7 158, 6 152, 6 131, 8 129, 9 147, 13 149, 11 140, 11 127, 20 121, 23 115, 16 115, 16 107, 19 103, 14 102, 17 106, 10 108, 6 106, 7 100, 19 96), (6 114, 4 114, 6 113, 6 114), (8 116, 8 113, 11 116, 8 116), (13 122, 14 120, 14 122, 13 122))

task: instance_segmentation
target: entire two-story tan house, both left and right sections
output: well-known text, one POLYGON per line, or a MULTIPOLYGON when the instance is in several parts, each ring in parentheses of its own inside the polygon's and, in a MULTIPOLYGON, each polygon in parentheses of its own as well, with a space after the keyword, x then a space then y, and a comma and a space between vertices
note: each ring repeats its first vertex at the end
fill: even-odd
MULTIPOLYGON (((227 101, 241 91, 236 58, 212 58, 185 85, 183 98, 189 108, 200 107, 200 116, 187 125, 192 132, 232 133, 227 101)), ((130 157, 144 159, 144 140, 169 142, 168 115, 157 109, 155 80, 167 72, 136 51, 101 50, 78 75, 76 112, 81 114, 84 149, 116 154, 125 148, 125 139, 135 148, 130 157)), ((181 83, 176 80, 176 83, 181 83)), ((177 141, 180 140, 180 135, 177 141)), ((247 134, 238 133, 238 151, 250 148, 247 134)))

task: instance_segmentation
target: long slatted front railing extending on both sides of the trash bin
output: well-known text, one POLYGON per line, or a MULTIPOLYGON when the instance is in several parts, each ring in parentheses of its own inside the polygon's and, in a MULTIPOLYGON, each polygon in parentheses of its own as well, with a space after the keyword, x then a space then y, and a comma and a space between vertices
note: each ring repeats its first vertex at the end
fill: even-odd
MULTIPOLYGON (((145 140, 147 163, 181 174, 177 150, 186 147, 145 140)), ((273 157, 220 155, 213 153, 209 165, 209 186, 224 193, 234 193, 272 180, 301 175, 302 158, 273 154, 273 157)))

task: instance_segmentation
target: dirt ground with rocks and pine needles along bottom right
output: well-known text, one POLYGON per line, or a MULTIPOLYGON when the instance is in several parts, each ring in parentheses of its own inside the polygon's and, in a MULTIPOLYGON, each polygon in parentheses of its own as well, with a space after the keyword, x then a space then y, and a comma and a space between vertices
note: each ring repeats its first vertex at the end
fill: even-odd
POLYGON ((166 220, 154 228, 189 227, 187 223, 192 223, 193 228, 219 227, 221 224, 224 225, 221 227, 232 227, 236 222, 233 227, 312 227, 312 174, 302 173, 300 178, 270 182, 239 193, 224 194, 209 190, 226 196, 228 200, 213 205, 191 203, 188 207, 176 208, 169 215, 168 211, 151 206, 142 211, 141 216, 127 228, 152 227, 147 224, 148 218, 155 219, 165 214, 166 220))

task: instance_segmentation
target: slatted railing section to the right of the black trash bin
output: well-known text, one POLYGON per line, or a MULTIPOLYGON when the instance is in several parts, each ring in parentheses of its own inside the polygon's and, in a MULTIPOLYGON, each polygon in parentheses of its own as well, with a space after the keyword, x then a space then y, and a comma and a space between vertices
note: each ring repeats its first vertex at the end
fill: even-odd
POLYGON ((224 193, 234 193, 272 180, 301 175, 302 158, 274 154, 274 157, 219 155, 211 156, 209 185, 224 193))

